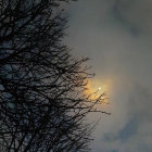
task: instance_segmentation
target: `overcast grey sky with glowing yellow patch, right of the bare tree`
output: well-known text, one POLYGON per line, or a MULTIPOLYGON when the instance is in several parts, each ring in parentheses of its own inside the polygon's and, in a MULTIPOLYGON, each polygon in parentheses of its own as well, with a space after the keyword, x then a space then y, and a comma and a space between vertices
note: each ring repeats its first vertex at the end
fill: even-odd
POLYGON ((109 88, 112 115, 92 152, 152 152, 152 0, 79 0, 68 24, 69 48, 91 58, 96 87, 109 88))

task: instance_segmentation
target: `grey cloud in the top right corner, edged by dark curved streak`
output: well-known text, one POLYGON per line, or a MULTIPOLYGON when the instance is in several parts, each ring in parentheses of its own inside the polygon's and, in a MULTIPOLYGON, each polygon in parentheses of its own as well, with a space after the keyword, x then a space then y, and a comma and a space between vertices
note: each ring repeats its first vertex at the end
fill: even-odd
POLYGON ((116 0, 115 12, 119 22, 138 31, 152 31, 151 0, 116 0))

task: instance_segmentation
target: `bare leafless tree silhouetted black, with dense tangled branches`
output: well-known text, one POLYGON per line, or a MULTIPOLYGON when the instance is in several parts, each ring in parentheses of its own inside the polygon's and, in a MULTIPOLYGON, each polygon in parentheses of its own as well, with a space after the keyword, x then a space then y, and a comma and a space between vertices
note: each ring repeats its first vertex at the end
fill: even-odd
MULTIPOLYGON (((87 59, 63 45, 68 0, 0 1, 0 151, 88 151, 87 59)), ((104 113, 104 112, 103 112, 104 113)))

